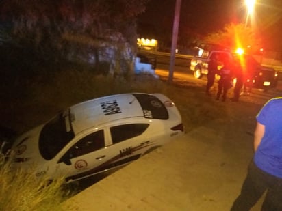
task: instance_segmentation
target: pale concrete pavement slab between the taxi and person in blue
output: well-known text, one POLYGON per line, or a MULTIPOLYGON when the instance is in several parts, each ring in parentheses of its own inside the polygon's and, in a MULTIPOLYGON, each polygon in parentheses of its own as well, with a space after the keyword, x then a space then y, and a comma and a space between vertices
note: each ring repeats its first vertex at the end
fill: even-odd
POLYGON ((239 136, 227 140, 216 130, 197 128, 90 186, 65 206, 68 210, 229 210, 252 154, 250 135, 239 136), (245 143, 240 145, 238 138, 245 143), (235 146, 244 148, 244 153, 235 146))

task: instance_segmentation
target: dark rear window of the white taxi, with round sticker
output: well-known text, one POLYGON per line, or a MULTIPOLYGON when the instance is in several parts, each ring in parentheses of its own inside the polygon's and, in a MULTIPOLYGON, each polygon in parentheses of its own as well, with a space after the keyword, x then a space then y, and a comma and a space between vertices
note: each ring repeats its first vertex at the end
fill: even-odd
POLYGON ((136 97, 140 103, 145 118, 148 119, 168 119, 168 111, 161 100, 150 94, 136 94, 136 97))

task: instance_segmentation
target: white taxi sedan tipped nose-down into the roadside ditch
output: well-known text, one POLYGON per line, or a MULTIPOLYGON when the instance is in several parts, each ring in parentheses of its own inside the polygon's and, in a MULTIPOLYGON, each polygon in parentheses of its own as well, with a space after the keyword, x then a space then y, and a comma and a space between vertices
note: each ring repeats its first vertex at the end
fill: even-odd
MULTIPOLYGON (((126 165, 183 135, 163 94, 117 94, 75 104, 14 141, 14 167, 72 182, 126 165)), ((12 157, 12 156, 11 156, 12 157)))

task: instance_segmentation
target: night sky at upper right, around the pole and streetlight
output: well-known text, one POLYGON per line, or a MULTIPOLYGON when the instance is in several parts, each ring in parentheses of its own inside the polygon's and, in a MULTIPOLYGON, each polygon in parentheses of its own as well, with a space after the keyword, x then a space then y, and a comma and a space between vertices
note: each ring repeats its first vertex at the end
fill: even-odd
MULTIPOLYGON (((148 38, 168 40, 172 36, 176 0, 151 0, 138 18, 138 33, 148 38)), ((282 1, 256 1, 251 27, 261 36, 264 48, 281 51, 282 1)), ((180 39, 206 36, 226 24, 245 23, 244 0, 181 0, 180 39)), ((192 40, 192 39, 191 39, 192 40)))

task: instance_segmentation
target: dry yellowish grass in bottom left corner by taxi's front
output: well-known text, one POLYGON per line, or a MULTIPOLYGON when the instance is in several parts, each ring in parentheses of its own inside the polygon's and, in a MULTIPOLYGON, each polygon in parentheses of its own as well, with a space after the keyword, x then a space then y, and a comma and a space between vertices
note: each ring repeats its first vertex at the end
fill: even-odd
POLYGON ((11 163, 0 160, 0 210, 63 210, 62 201, 70 193, 62 188, 64 178, 35 178, 22 169, 12 170, 11 163))

